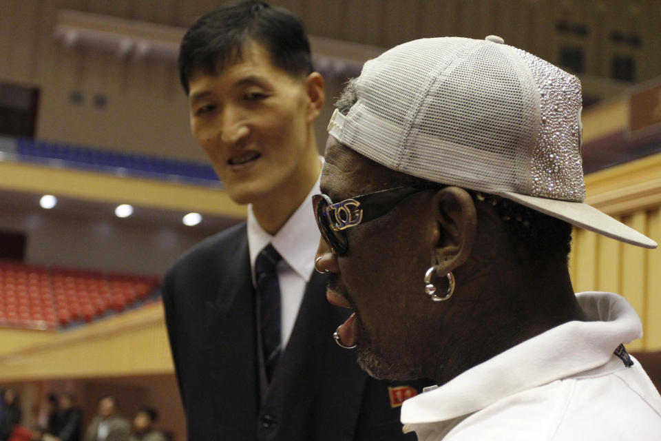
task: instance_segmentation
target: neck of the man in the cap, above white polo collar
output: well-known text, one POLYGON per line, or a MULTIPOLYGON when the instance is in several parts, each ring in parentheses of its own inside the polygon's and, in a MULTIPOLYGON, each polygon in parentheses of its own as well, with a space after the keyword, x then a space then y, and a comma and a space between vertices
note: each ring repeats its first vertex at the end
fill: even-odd
MULTIPOLYGON (((496 268, 483 274, 488 283, 480 283, 478 276, 462 285, 464 298, 458 296, 457 300, 472 303, 474 318, 470 324, 465 323, 457 336, 459 341, 455 343, 463 345, 462 350, 454 351, 453 358, 435 360, 433 378, 437 384, 565 322, 587 320, 571 288, 565 263, 486 265, 490 264, 496 268), (471 292, 478 292, 479 296, 471 298, 471 292)), ((479 274, 480 268, 465 270, 479 274)))

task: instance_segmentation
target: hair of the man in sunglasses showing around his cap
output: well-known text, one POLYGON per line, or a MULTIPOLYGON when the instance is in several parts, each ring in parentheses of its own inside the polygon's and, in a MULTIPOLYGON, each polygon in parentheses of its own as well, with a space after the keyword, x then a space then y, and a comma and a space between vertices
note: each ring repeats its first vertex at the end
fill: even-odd
MULTIPOLYGON (((356 79, 350 79, 335 102, 335 107, 342 114, 348 114, 350 108, 357 101, 356 88, 356 79)), ((406 185, 419 189, 441 189, 446 187, 443 184, 403 173, 397 174, 396 181, 397 184, 395 185, 406 185)), ((549 258, 563 258, 567 262, 571 251, 571 224, 525 207, 511 199, 495 194, 477 192, 472 189, 465 190, 472 196, 475 203, 491 205, 501 218, 505 232, 524 245, 530 254, 549 258)))

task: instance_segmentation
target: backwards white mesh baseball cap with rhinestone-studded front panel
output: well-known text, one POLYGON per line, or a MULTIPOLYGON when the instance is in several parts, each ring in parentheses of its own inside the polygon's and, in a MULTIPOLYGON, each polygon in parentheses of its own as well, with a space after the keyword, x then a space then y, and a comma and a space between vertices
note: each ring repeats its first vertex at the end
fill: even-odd
POLYGON ((647 236, 583 203, 580 81, 503 39, 409 41, 365 63, 328 132, 377 163, 512 199, 632 245, 647 236))

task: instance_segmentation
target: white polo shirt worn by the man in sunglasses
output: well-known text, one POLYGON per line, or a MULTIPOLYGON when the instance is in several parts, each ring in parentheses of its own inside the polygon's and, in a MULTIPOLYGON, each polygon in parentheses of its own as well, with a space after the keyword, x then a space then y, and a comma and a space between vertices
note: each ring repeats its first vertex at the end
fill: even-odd
POLYGON ((613 351, 642 336, 613 293, 577 294, 589 322, 567 322, 406 400, 419 441, 661 440, 661 397, 640 363, 613 351), (429 390, 431 389, 431 390, 429 390))

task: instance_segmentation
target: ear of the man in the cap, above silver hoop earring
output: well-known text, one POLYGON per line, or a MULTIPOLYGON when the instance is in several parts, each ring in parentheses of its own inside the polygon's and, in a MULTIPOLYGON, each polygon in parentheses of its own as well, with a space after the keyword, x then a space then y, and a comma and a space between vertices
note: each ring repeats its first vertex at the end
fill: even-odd
POLYGON ((477 229, 473 198, 463 188, 445 187, 434 195, 436 229, 432 243, 432 265, 452 271, 470 256, 477 229))

